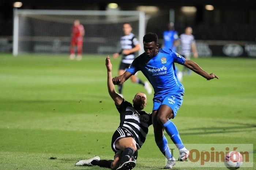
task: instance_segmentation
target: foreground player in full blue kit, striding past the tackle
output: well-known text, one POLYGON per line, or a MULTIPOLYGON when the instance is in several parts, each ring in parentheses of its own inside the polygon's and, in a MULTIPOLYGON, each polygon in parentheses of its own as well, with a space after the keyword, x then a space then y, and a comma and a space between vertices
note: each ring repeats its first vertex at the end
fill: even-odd
POLYGON ((208 74, 195 62, 186 60, 168 48, 158 48, 158 36, 155 33, 144 35, 143 45, 145 52, 133 61, 123 75, 114 77, 112 81, 114 84, 122 84, 137 71, 142 71, 151 83, 155 92, 152 113, 155 142, 159 150, 168 159, 164 168, 171 169, 176 160, 170 152, 166 137, 163 135, 164 130, 180 151, 178 160, 185 161, 189 157, 189 151, 184 147, 177 127, 170 120, 175 118, 184 95, 184 87, 177 79, 174 63, 188 67, 207 80, 218 79, 218 76, 213 73, 208 74))

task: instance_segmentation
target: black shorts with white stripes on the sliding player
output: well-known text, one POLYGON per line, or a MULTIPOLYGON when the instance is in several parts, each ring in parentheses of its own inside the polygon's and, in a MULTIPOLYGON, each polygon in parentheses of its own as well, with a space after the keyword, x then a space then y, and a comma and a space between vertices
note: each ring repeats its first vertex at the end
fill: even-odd
MULTIPOLYGON (((127 137, 133 137, 133 135, 127 131, 127 129, 123 128, 123 127, 118 127, 117 130, 114 132, 113 136, 112 136, 112 142, 111 142, 111 148, 112 150, 114 151, 115 153, 115 156, 114 156, 114 159, 116 158, 117 154, 121 154, 121 150, 117 149, 116 148, 116 142, 118 141, 118 139, 121 139, 121 138, 127 138, 127 137)), ((134 154, 132 155, 132 159, 133 161, 136 162, 137 158, 138 158, 138 144, 136 142, 136 145, 137 145, 137 150, 134 152, 134 154)))

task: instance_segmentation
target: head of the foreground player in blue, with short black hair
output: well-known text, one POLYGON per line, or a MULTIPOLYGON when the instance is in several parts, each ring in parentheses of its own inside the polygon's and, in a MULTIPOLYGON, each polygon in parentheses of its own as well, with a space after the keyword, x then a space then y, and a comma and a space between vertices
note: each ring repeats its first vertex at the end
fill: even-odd
POLYGON ((148 57, 153 57, 158 53, 158 36, 156 33, 147 33, 143 37, 144 51, 148 57))

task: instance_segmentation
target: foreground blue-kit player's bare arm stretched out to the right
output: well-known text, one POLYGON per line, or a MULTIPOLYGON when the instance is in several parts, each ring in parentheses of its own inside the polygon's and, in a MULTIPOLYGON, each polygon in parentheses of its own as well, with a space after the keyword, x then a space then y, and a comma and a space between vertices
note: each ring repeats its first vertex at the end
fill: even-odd
POLYGON ((197 74, 203 76, 207 80, 211 80, 211 79, 214 79, 214 78, 219 79, 217 75, 215 75, 213 73, 208 74, 200 66, 198 66, 198 64, 196 64, 195 62, 193 62, 191 60, 185 60, 185 63, 183 65, 188 67, 190 70, 196 72, 197 74))

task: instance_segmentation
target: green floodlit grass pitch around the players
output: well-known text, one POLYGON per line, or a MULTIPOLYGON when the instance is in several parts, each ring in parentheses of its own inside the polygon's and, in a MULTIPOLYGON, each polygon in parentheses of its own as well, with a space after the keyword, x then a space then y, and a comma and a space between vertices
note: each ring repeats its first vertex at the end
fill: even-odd
MULTIPOLYGON (((112 59, 113 76, 119 61, 112 59)), ((195 73, 184 76, 184 101, 173 120, 182 141, 256 146, 256 60, 195 61, 220 79, 206 81, 195 73)), ((146 80, 141 72, 139 77, 146 80)), ((123 94, 132 101, 139 91, 143 87, 128 80, 123 94)), ((152 98, 148 95, 148 112, 152 98)), ((0 169, 101 169, 74 163, 94 155, 112 159, 110 143, 118 124, 119 114, 106 86, 105 56, 87 55, 78 62, 64 55, 0 54, 0 169)), ((180 164, 175 169, 199 169, 180 164)), ((150 127, 135 169, 164 165, 150 127)))

